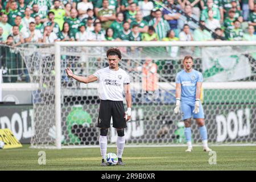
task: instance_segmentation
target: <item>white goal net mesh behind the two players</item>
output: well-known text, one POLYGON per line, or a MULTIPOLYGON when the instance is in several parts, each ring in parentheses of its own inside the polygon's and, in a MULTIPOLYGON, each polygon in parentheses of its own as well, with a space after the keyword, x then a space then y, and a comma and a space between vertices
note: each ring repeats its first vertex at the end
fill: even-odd
MULTIPOLYGON (((89 76, 108 67, 108 48, 61 46, 61 80, 57 81, 61 82, 62 146, 98 144, 98 82, 77 82, 67 77, 65 68, 68 66, 76 75, 89 76)), ((147 47, 145 44, 118 48, 122 52, 119 67, 130 75, 133 102, 131 121, 125 129, 126 144, 185 143, 181 114, 174 114, 175 77, 183 69, 185 55, 193 56, 194 68, 204 76, 201 101, 209 142, 255 143, 255 46, 147 47), (151 70, 153 65, 156 65, 154 71, 151 70), (157 73, 157 79, 148 79, 152 72, 157 73), (154 86, 147 88, 145 78, 154 86)), ((55 146, 54 46, 28 46, 19 51, 31 82, 39 85, 32 94, 34 136, 31 146, 55 146)), ((193 119, 191 129, 192 142, 200 143, 199 127, 193 119)), ((116 139, 117 133, 110 127, 108 142, 115 143, 116 139)))

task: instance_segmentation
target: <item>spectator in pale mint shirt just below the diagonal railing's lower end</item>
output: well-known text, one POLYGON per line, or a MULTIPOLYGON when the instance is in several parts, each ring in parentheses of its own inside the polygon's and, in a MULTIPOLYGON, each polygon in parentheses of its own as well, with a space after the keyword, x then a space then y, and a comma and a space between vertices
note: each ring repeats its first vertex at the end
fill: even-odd
MULTIPOLYGON (((207 30, 204 29, 203 26, 207 27, 207 24, 203 21, 200 20, 200 27, 197 28, 194 32, 193 32, 193 40, 195 41, 207 41, 207 40, 212 40, 212 35, 210 34, 210 32, 208 32, 207 30)), ((209 27, 208 27, 209 28, 209 27)), ((215 29, 214 29, 215 30, 215 29)), ((212 30, 212 31, 214 31, 212 30)))

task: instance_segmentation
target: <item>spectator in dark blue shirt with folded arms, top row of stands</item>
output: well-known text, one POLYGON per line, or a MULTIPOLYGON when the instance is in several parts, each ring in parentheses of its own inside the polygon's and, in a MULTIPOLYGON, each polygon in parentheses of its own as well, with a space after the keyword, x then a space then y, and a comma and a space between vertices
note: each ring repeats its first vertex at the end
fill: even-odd
MULTIPOLYGON (((167 20, 168 24, 170 25, 171 30, 174 30, 175 35, 179 35, 180 30, 178 29, 177 25, 178 25, 178 20, 180 18, 180 14, 177 13, 176 10, 172 9, 171 5, 174 5, 174 0, 168 0, 168 8, 170 10, 172 10, 172 12, 164 9, 163 10, 164 19, 167 20)), ((156 12, 155 12, 155 14, 156 14, 156 12)), ((167 28, 167 29, 169 30, 170 28, 167 28)), ((166 36, 167 31, 165 32, 164 36, 166 36)), ((164 38, 164 36, 159 36, 159 38, 162 39, 162 38, 164 38)))

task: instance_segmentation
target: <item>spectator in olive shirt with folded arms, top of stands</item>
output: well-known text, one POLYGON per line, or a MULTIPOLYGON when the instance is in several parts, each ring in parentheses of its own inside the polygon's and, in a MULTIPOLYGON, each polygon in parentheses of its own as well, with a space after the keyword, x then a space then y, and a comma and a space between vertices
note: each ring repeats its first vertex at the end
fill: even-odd
POLYGON ((109 1, 103 0, 102 9, 99 9, 98 11, 98 19, 101 20, 102 28, 104 28, 104 30, 110 27, 110 25, 115 20, 115 11, 110 10, 108 7, 109 7, 109 1))

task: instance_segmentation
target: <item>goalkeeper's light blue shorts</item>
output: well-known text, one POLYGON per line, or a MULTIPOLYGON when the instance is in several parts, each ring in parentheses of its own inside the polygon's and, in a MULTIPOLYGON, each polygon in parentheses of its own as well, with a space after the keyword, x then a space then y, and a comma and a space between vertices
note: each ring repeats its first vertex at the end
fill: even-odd
POLYGON ((182 102, 180 105, 181 114, 182 114, 182 120, 191 118, 193 115, 193 118, 204 118, 204 110, 203 106, 200 101, 199 105, 199 113, 195 114, 193 113, 193 110, 195 109, 195 102, 182 102))

